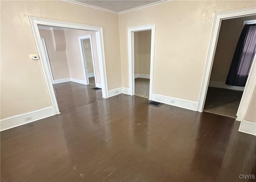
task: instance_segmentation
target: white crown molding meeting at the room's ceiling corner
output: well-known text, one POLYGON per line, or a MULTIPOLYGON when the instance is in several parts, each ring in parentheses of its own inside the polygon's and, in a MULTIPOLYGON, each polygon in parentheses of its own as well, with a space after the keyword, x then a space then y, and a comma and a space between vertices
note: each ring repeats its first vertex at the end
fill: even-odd
POLYGON ((93 8, 93 9, 96 9, 96 10, 102 10, 102 11, 109 12, 109 13, 124 14, 124 13, 128 13, 128 12, 133 12, 133 11, 136 11, 136 10, 140 10, 140 9, 143 9, 143 8, 148 8, 150 6, 155 6, 155 5, 158 5, 158 4, 170 2, 170 1, 173 1, 173 0, 160 0, 158 2, 152 2, 150 4, 146 4, 146 5, 143 5, 143 6, 139 6, 139 7, 136 7, 136 8, 131 8, 131 9, 120 11, 120 12, 116 12, 116 11, 113 11, 113 10, 108 10, 108 9, 105 9, 105 8, 100 8, 98 6, 93 6, 93 5, 90 5, 90 4, 84 4, 84 3, 81 3, 81 2, 77 2, 75 0, 61 0, 61 1, 69 2, 69 3, 80 5, 80 6, 85 6, 85 7, 88 7, 88 8, 93 8))

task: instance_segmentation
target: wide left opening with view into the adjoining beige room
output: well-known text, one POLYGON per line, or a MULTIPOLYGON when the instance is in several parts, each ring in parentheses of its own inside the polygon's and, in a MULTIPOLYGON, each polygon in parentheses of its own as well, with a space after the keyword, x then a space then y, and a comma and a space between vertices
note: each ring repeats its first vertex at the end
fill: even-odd
POLYGON ((48 25, 38 28, 60 112, 82 105, 83 98, 102 97, 101 89, 91 89, 100 85, 95 32, 48 25), (89 77, 97 79, 89 85, 89 77))

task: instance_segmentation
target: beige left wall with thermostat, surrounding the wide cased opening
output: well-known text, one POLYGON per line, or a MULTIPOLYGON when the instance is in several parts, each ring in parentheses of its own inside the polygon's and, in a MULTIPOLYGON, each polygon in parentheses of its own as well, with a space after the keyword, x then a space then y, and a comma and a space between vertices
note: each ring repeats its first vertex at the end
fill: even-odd
POLYGON ((108 89, 121 86, 117 14, 64 1, 0 3, 1 118, 52 105, 40 61, 28 57, 37 54, 28 16, 102 26, 108 89))

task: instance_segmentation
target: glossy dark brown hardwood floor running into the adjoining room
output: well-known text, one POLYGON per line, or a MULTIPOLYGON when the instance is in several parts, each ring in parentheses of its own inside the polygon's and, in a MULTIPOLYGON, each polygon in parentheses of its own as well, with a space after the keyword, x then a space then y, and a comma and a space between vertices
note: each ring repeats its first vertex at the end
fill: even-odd
POLYGON ((55 85, 61 114, 2 131, 1 182, 244 182, 256 137, 239 122, 138 96, 55 85))

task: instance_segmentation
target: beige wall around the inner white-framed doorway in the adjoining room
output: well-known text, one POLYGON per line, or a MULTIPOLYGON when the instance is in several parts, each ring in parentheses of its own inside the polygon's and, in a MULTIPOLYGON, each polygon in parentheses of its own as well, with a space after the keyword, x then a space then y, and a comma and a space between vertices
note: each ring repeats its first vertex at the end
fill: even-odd
POLYGON ((92 35, 92 49, 95 61, 95 72, 96 72, 96 82, 100 83, 100 67, 98 64, 98 52, 96 45, 96 35, 94 31, 84 31, 77 29, 65 30, 66 36, 66 55, 68 59, 68 66, 71 78, 78 80, 84 80, 84 73, 82 68, 82 58, 80 53, 80 46, 78 37, 82 35, 92 35))

